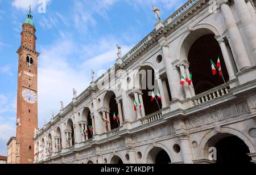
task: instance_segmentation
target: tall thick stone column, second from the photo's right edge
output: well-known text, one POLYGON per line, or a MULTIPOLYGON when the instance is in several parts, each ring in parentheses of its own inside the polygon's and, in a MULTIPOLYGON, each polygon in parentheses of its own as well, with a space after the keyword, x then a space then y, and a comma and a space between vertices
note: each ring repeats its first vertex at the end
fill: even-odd
POLYGON ((243 44, 242 36, 237 27, 236 20, 234 19, 233 13, 228 4, 224 2, 220 7, 228 28, 231 44, 233 45, 234 51, 236 52, 237 68, 239 71, 245 70, 251 67, 251 63, 247 55, 245 45, 243 44))

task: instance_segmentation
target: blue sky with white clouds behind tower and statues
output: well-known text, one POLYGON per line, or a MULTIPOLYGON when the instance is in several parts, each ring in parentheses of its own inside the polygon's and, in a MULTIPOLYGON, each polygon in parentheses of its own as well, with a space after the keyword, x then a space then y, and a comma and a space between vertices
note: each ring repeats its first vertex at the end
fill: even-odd
POLYGON ((39 0, 0 0, 0 155, 15 136, 16 82, 20 32, 28 6, 41 53, 38 62, 39 127, 57 114, 60 101, 72 100, 72 89, 84 91, 90 70, 100 76, 117 58, 116 44, 123 54, 154 29, 151 5, 161 8, 166 19, 185 0, 46 0, 46 13, 38 12, 39 0))

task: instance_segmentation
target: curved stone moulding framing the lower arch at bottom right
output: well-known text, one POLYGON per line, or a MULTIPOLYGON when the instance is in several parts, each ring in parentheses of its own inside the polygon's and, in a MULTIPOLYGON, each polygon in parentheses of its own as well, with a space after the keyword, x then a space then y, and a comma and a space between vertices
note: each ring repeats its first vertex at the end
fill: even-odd
POLYGON ((232 134, 234 136, 237 136, 238 138, 243 140, 243 142, 245 142, 246 146, 249 148, 251 153, 255 152, 253 143, 251 143, 251 140, 249 138, 247 138, 247 136, 244 135, 241 131, 232 129, 230 127, 221 127, 220 131, 216 131, 216 129, 212 129, 211 131, 209 131, 207 134, 205 134, 203 136, 203 138, 201 139, 201 142, 199 144, 199 151, 197 153, 197 157, 199 159, 205 158, 204 157, 205 145, 207 144, 207 142, 210 138, 212 138, 214 135, 216 135, 218 133, 227 133, 227 134, 232 134))

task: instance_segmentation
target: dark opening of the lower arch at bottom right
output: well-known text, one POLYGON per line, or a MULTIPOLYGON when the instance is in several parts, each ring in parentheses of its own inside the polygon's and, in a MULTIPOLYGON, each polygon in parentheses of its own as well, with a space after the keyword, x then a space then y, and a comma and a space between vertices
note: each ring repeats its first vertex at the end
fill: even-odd
MULTIPOLYGON (((205 150, 208 151, 210 147, 215 147, 217 149, 217 164, 251 163, 251 157, 247 155, 247 153, 250 153, 249 148, 242 139, 238 138, 238 136, 228 133, 214 135, 208 140, 205 145, 205 150)), ((207 154, 209 155, 209 153, 207 154)))

